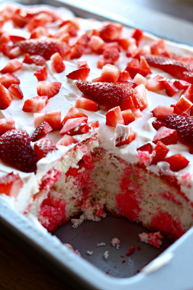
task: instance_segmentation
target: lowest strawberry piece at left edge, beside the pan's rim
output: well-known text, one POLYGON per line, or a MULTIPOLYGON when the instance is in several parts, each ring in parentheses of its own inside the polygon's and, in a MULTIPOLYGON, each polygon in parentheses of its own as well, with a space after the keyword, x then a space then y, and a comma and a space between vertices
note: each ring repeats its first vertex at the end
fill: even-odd
POLYGON ((0 193, 5 193, 16 198, 22 186, 23 181, 18 173, 14 174, 11 172, 0 177, 0 193))

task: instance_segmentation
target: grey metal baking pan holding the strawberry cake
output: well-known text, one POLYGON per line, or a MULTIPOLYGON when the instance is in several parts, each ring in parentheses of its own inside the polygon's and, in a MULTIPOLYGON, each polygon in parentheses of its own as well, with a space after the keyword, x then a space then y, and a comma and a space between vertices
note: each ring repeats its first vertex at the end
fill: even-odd
MULTIPOLYGON (((114 14, 106 14, 105 18, 101 16, 104 11, 89 12, 85 7, 80 8, 80 4, 69 4, 67 1, 20 3, 65 6, 77 16, 120 22, 114 14)), ((90 9, 90 6, 87 8, 90 9)), ((130 27, 136 25, 127 23, 130 27)), ((135 223, 130 224, 122 218, 115 217, 106 217, 100 222, 87 220, 76 229, 68 223, 52 236, 4 201, 0 203, 0 227, 10 238, 14 238, 14 241, 18 241, 20 245, 22 243, 28 250, 32 249, 40 261, 75 289, 193 289, 193 228, 173 244, 165 239, 159 249, 139 241, 138 233, 146 230, 135 223), (115 237, 120 240, 119 249, 111 244, 115 237), (74 254, 64 243, 71 244, 81 256, 74 254), (100 243, 105 245, 99 246, 100 243), (127 256, 126 253, 131 247, 135 247, 135 251, 127 256), (93 254, 89 255, 87 251, 93 251, 93 254), (103 256, 106 251, 109 253, 107 259, 103 256)))

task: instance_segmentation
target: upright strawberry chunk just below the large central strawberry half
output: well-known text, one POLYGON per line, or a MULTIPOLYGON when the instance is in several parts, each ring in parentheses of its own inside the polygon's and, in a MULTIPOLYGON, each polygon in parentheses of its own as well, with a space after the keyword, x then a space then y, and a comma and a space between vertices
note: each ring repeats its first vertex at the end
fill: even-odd
POLYGON ((116 127, 117 124, 125 124, 119 106, 110 109, 106 114, 106 125, 116 127))

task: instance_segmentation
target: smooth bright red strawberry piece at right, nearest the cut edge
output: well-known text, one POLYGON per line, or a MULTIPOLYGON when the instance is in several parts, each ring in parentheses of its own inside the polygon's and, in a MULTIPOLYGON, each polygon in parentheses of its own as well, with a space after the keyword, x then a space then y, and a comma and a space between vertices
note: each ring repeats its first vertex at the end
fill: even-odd
POLYGON ((182 170, 189 164, 189 161, 181 154, 174 154, 165 158, 164 161, 170 164, 170 169, 174 172, 182 170))

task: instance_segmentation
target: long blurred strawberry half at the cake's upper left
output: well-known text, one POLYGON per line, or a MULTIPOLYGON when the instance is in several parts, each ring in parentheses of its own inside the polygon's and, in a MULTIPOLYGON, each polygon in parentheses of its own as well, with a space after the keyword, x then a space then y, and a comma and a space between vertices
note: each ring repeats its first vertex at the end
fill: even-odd
POLYGON ((47 60, 50 59, 55 52, 58 52, 62 58, 69 52, 69 47, 65 42, 61 42, 54 38, 22 40, 16 43, 16 45, 19 46, 23 52, 31 55, 38 54, 47 60))

